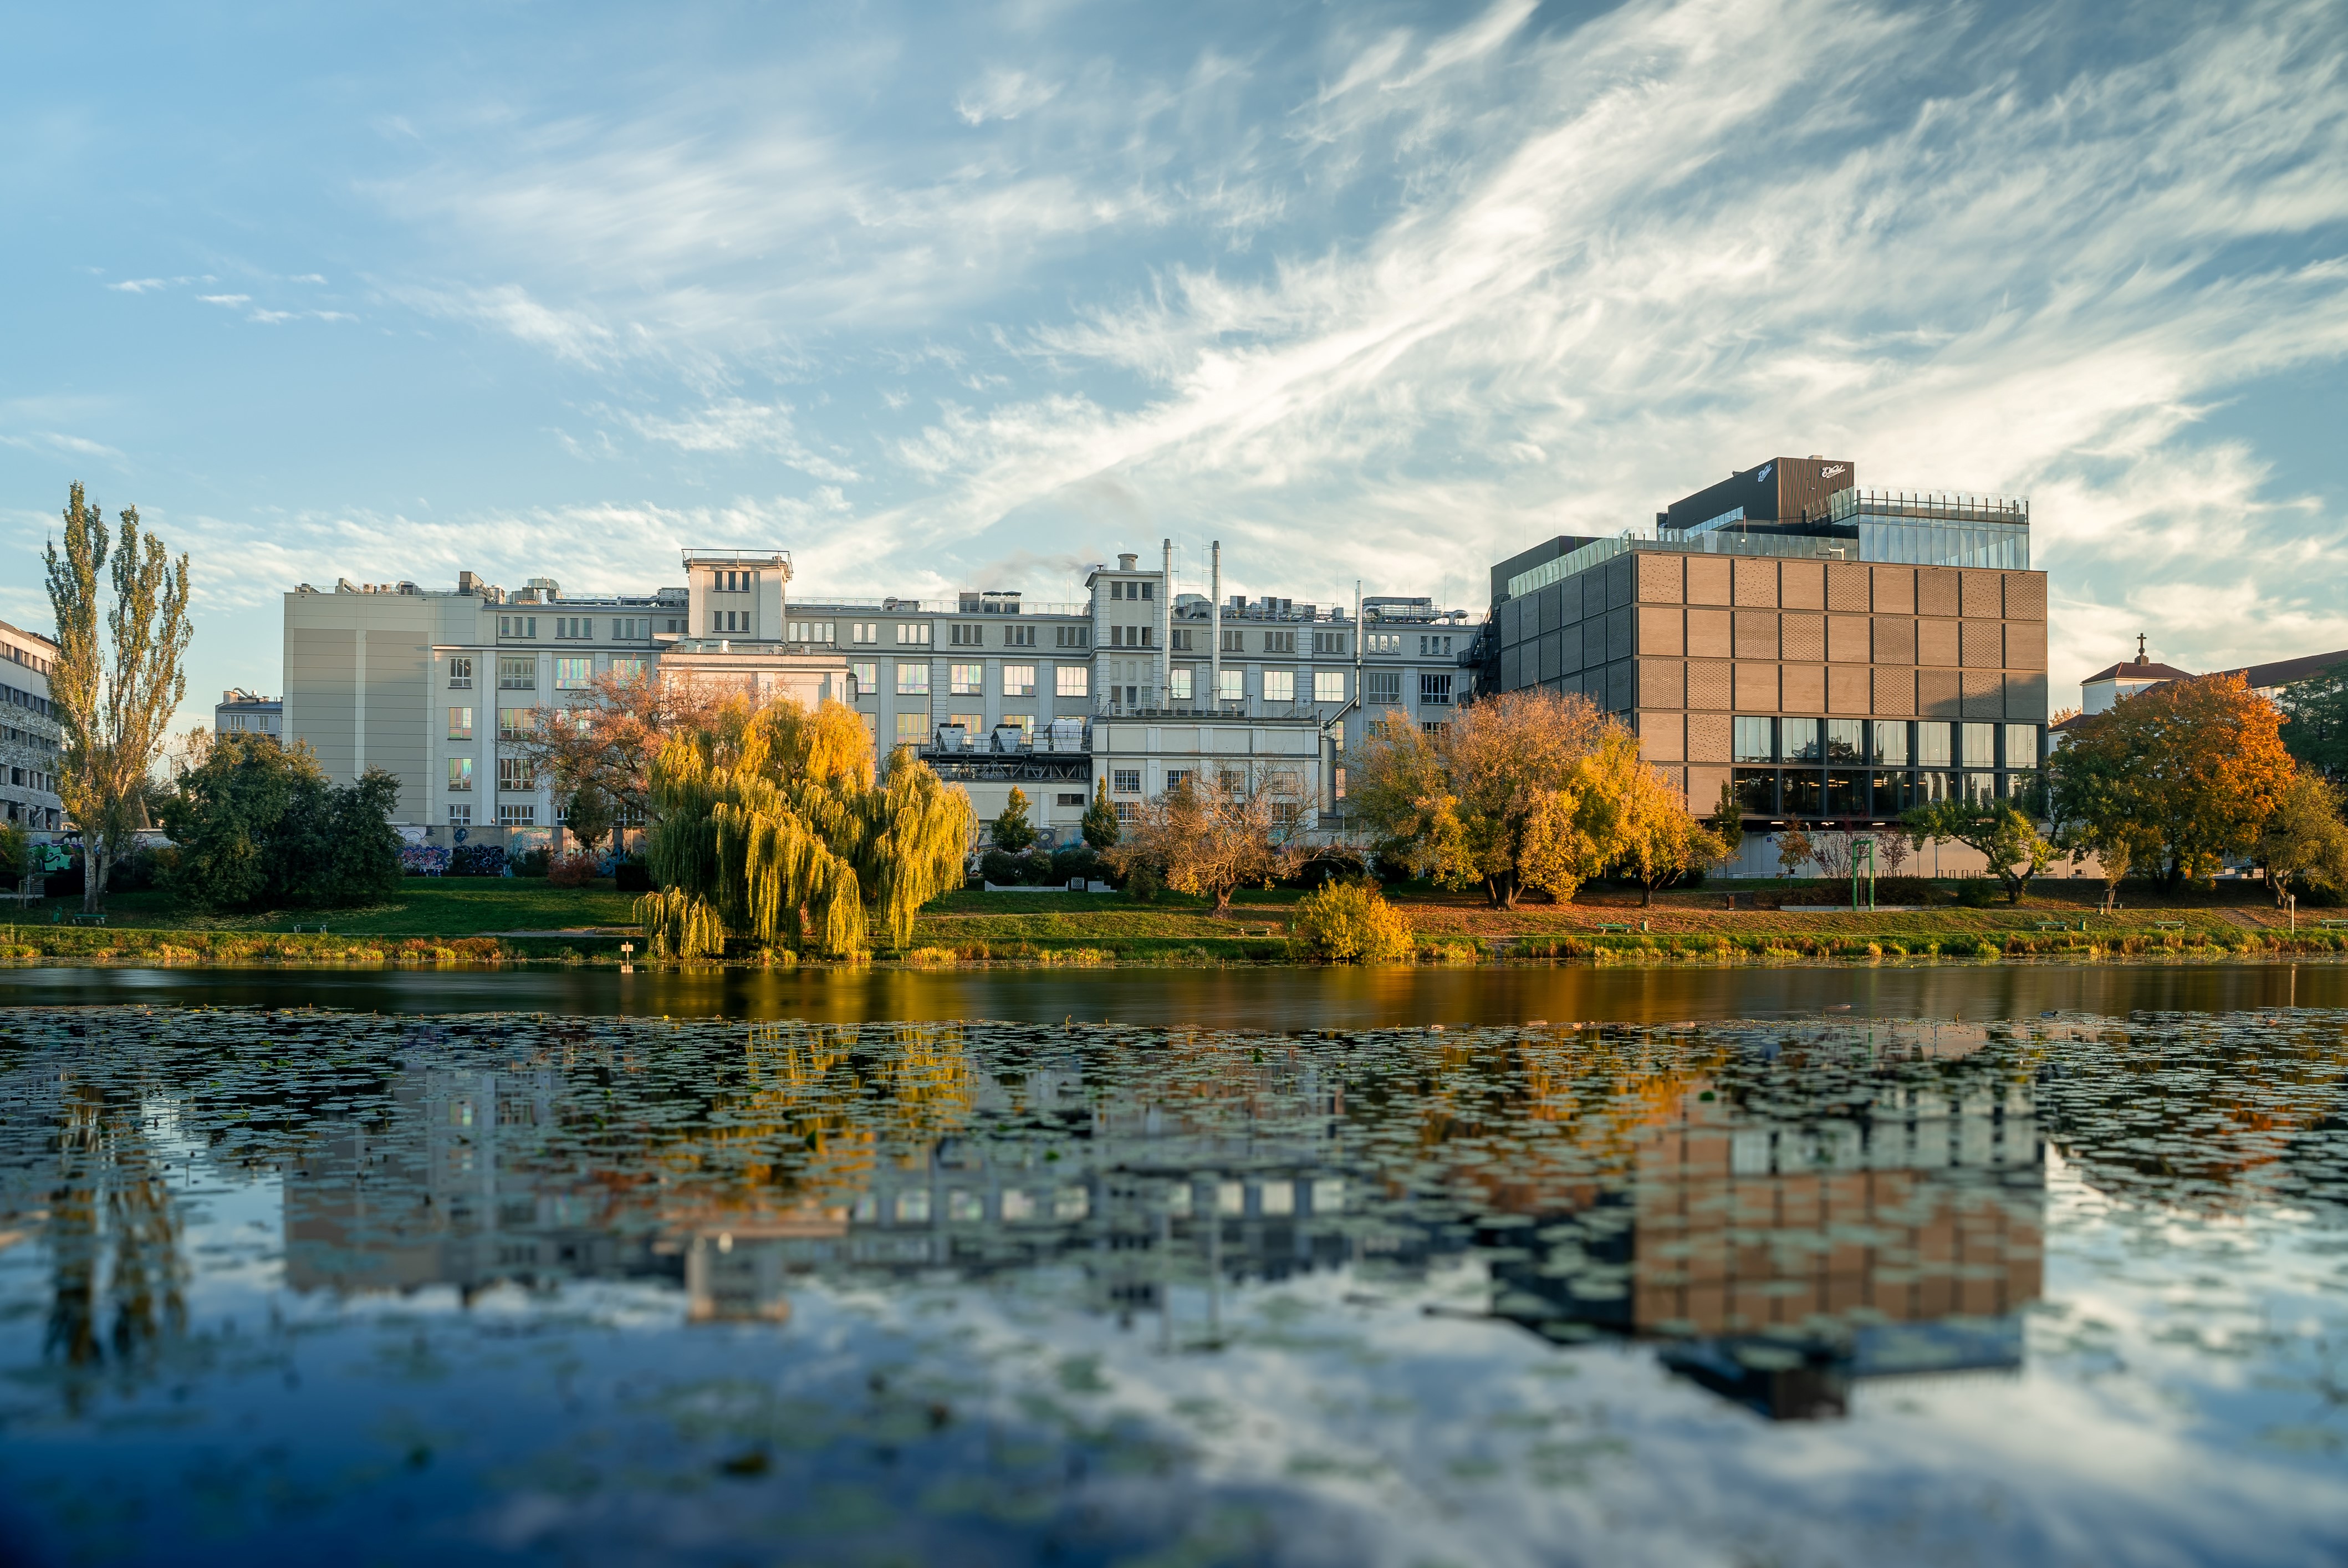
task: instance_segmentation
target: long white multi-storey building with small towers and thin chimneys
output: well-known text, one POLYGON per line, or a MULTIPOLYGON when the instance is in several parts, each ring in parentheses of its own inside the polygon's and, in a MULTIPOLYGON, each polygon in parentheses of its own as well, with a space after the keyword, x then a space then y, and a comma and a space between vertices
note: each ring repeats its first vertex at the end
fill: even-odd
POLYGON ((1181 589, 1169 545, 1155 570, 1118 556, 1059 603, 794 599, 787 552, 686 552, 683 566, 686 587, 653 594, 564 594, 549 577, 505 592, 472 573, 456 592, 303 584, 286 594, 284 735, 336 782, 397 772, 404 826, 495 840, 554 822, 512 744, 528 716, 599 671, 657 669, 843 699, 876 756, 920 749, 981 819, 1017 786, 1031 822, 1068 843, 1097 777, 1120 815, 1197 768, 1273 782, 1308 822, 1341 810, 1364 723, 1444 723, 1475 638, 1465 610, 1430 599, 1219 603, 1219 573, 1207 594, 1181 589))

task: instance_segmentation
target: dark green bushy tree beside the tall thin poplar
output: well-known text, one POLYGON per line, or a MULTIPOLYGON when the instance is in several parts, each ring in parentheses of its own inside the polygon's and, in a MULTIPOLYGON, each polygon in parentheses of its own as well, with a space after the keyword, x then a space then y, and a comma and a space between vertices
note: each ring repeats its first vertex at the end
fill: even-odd
POLYGON ((211 908, 348 906, 399 887, 399 777, 369 768, 336 789, 308 746, 223 735, 178 779, 164 831, 169 887, 211 908))

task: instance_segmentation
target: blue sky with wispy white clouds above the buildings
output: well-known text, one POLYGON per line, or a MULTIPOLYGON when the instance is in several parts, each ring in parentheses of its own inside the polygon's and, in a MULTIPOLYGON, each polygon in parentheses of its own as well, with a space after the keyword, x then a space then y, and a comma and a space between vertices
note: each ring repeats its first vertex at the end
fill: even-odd
POLYGON ((2057 702, 2348 648, 2348 0, 16 7, 0 617, 1435 594, 1775 455, 2026 495, 2057 702))

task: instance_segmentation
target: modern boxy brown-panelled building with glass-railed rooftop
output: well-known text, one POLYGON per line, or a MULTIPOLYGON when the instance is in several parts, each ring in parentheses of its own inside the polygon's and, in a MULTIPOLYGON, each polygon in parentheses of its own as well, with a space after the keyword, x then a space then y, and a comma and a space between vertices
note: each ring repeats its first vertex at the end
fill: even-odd
POLYGON ((1493 566, 1486 690, 1580 690, 1705 812, 1850 824, 2024 796, 2045 753, 2047 584, 2029 502, 1860 491, 1777 458, 1493 566))

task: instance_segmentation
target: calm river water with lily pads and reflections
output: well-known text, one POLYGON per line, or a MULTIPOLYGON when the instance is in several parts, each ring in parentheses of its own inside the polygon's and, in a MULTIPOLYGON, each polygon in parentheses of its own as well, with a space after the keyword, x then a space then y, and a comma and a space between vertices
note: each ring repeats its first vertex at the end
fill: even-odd
POLYGON ((2339 1563, 2341 979, 14 969, 0 1561, 2339 1563))

